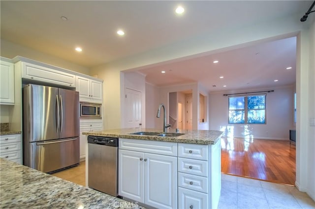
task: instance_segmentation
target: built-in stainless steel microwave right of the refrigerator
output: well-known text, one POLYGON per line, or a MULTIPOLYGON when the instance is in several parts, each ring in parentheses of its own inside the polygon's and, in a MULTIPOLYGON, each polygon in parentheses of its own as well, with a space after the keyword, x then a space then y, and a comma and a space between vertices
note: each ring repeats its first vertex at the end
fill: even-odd
POLYGON ((102 104, 80 102, 80 118, 102 118, 102 104))

